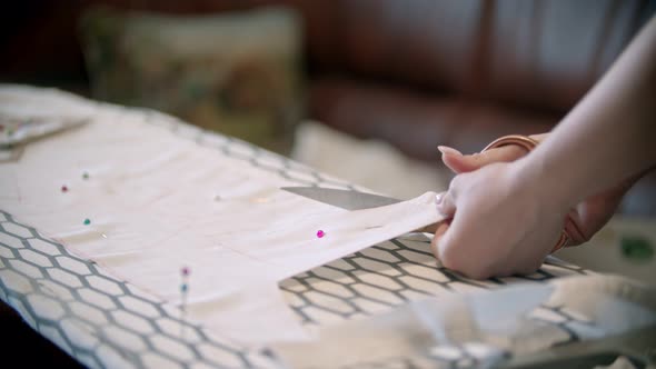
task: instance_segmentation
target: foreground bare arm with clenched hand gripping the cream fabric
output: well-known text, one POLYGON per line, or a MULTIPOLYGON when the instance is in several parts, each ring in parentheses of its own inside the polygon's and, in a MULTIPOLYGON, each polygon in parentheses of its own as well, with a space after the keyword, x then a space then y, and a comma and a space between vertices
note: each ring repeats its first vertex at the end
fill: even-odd
POLYGON ((529 272, 550 252, 567 213, 574 242, 589 239, 656 166, 655 80, 653 17, 529 156, 489 164, 479 156, 463 168, 445 157, 467 172, 438 206, 453 220, 436 231, 436 256, 476 278, 529 272))

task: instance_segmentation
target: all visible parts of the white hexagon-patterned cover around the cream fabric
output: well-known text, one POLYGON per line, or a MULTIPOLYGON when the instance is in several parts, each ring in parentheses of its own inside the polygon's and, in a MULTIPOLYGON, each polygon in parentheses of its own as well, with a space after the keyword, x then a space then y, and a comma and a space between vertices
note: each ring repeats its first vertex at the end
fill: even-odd
MULTIPOLYGON (((153 110, 115 109, 300 186, 359 189, 248 142, 203 131, 153 110)), ((586 273, 575 266, 554 262, 533 276, 473 281, 443 268, 428 249, 426 238, 390 240, 285 280, 280 289, 299 320, 316 326, 389 311, 426 296, 586 273)), ((268 351, 240 347, 180 319, 176 307, 112 278, 1 210, 0 298, 41 335, 90 368, 277 367, 268 351)), ((554 345, 577 340, 575 328, 587 323, 584 318, 564 307, 540 307, 533 317, 563 329, 563 340, 554 345)), ((421 358, 398 358, 370 367, 421 367, 426 362, 429 367, 461 367, 475 363, 484 349, 438 348, 421 358)))

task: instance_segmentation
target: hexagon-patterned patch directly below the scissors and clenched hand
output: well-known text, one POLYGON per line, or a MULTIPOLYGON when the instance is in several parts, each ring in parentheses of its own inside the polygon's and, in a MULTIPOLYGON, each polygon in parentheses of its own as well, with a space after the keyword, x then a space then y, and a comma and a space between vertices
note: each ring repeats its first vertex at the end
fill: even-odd
MULTIPOLYGON (((550 261, 530 276, 476 281, 441 267, 429 246, 424 236, 394 239, 289 278, 280 288, 305 325, 322 325, 389 311, 429 296, 494 289, 518 281, 544 282, 555 278, 556 272, 586 272, 550 261)), ((539 319, 559 316, 556 310, 553 313, 543 313, 539 319)), ((550 321, 557 323, 557 319, 550 321)))

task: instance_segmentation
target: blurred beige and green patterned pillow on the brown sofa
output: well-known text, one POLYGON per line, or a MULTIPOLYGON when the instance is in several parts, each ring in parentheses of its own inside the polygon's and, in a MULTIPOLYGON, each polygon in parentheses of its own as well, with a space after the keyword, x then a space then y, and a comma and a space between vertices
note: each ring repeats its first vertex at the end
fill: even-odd
POLYGON ((281 153, 305 110, 301 32, 287 8, 193 17, 95 8, 80 22, 93 98, 281 153))

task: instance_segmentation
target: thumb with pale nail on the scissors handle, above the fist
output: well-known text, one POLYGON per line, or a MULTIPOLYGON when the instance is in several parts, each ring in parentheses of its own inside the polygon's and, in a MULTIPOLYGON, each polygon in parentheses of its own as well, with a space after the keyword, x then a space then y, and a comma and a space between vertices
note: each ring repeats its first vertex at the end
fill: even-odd
POLYGON ((441 161, 455 173, 477 170, 493 162, 514 161, 526 154, 526 150, 517 144, 507 144, 474 154, 461 154, 455 149, 439 146, 441 161))

